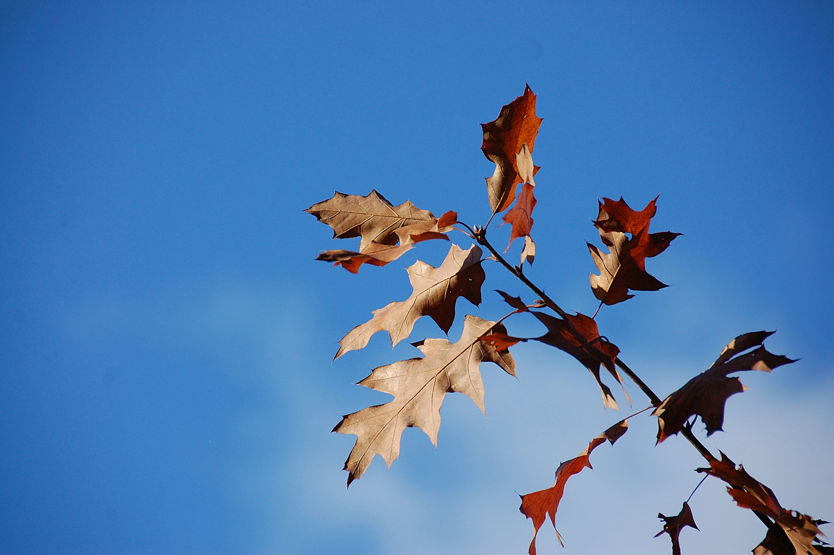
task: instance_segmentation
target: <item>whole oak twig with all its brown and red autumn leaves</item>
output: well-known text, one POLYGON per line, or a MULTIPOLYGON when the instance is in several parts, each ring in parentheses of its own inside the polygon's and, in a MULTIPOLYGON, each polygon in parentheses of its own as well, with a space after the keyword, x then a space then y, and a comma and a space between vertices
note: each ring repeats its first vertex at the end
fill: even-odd
MULTIPOLYGON (((458 214, 452 210, 436 218, 430 211, 418 209, 409 201, 394 206, 375 190, 366 196, 336 192, 331 199, 314 204, 307 210, 333 229, 334 238, 360 238, 359 250, 326 250, 318 257, 318 260, 334 262, 334 265, 341 265, 354 274, 364 264, 389 264, 421 241, 450 240, 448 234, 452 230, 474 240, 468 249, 451 244, 445 260, 438 267, 420 260, 409 266, 411 295, 374 310, 370 320, 350 330, 339 341, 336 358, 367 346, 370 337, 378 331, 387 331, 392 346, 395 346, 411 335, 414 323, 421 316, 430 316, 441 330, 448 333, 455 322, 458 298, 463 297, 473 305, 480 304, 485 260, 503 265, 538 296, 533 304, 527 305, 520 297, 498 291, 512 309, 509 314, 495 321, 465 315, 459 341, 452 343, 445 338, 418 341, 414 346, 422 351, 422 357, 379 366, 360 381, 360 385, 389 393, 394 399, 346 415, 334 427, 334 431, 339 433, 357 436, 344 463, 348 486, 362 476, 377 455, 390 466, 399 456, 400 436, 407 427, 419 427, 436 445, 440 407, 446 393, 463 393, 484 411, 480 363, 495 363, 510 376, 515 376, 515 361, 510 355, 510 347, 523 341, 540 341, 565 351, 590 371, 600 387, 606 409, 617 409, 618 405, 610 387, 602 380, 602 368, 620 385, 626 399, 628 394, 618 367, 631 377, 649 397, 651 406, 647 408, 655 409, 651 414, 656 416, 658 422, 657 442, 678 433, 686 436, 710 464, 709 468, 698 469, 699 472, 726 482, 728 492, 736 503, 756 512, 756 516, 766 524, 768 532, 756 547, 756 555, 821 555, 834 552, 821 542, 818 526, 822 521, 781 507, 769 488, 750 477, 743 468, 736 468, 723 453, 720 461, 713 457, 691 431, 697 417, 706 426, 707 436, 721 430, 727 399, 746 389, 739 378, 730 374, 739 371, 769 372, 777 366, 793 362, 786 356, 774 355, 766 350, 763 343, 772 332, 756 331, 736 337, 709 369, 661 401, 620 360, 620 349, 606 336, 600 335, 596 313, 591 316, 566 313, 526 277, 523 271, 525 262, 532 265, 535 260, 535 242, 530 233, 536 205, 534 176, 539 168, 533 164, 532 153, 541 122, 542 119, 535 114, 535 94, 530 87, 526 87, 520 97, 501 108, 495 121, 482 124, 484 139, 481 150, 487 159, 495 163, 494 174, 486 179, 491 215, 483 227, 460 222, 458 214), (503 219, 511 226, 510 242, 505 252, 516 239, 524 239, 520 264, 516 266, 510 265, 486 238, 491 220, 501 212, 505 212, 503 219), (481 246, 490 251, 490 257, 483 258, 481 246), (545 333, 529 338, 508 335, 503 322, 512 315, 523 313, 533 315, 544 325, 545 333)), ((590 274, 590 288, 600 301, 597 311, 602 305, 615 305, 631 299, 634 296, 631 291, 654 291, 666 287, 646 271, 646 259, 660 255, 681 234, 649 231, 651 219, 657 211, 656 200, 652 199, 640 211, 631 209, 622 198, 600 201, 594 225, 604 248, 588 244, 599 271, 599 274, 590 274)), ((628 401, 631 404, 631 400, 628 401)), ((596 447, 605 441, 613 445, 625 434, 627 420, 617 422, 596 436, 578 457, 562 462, 551 487, 521 496, 520 511, 532 519, 535 528, 530 555, 535 555, 535 538, 546 517, 550 517, 555 528, 555 515, 568 479, 585 467, 591 467, 589 457, 596 447)), ((688 501, 683 503, 681 512, 675 517, 659 515, 665 525, 658 535, 667 533, 671 537, 673 554, 681 553, 681 529, 686 526, 697 529, 688 501)), ((556 534, 561 542, 559 532, 556 534)))

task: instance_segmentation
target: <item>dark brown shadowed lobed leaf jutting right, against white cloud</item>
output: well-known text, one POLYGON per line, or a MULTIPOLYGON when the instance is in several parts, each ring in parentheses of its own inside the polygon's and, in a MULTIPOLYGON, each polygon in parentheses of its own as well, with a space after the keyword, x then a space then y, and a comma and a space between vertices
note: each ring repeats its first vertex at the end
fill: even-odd
POLYGON ((741 380, 728 377, 728 374, 751 370, 769 372, 777 366, 796 362, 765 349, 763 343, 771 334, 772 331, 755 331, 736 337, 724 347, 721 356, 709 369, 666 397, 652 412, 657 416, 657 442, 681 431, 691 416, 701 417, 707 436, 721 430, 726 400, 746 390, 741 380))

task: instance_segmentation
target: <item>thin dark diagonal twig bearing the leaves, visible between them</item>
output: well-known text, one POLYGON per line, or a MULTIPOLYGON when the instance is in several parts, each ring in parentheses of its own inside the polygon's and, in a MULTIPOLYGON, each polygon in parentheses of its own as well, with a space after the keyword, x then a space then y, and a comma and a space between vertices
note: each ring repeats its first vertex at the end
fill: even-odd
MULTIPOLYGON (((490 218, 490 220, 491 219, 492 218, 490 218)), ((527 287, 530 288, 530 290, 532 290, 536 295, 539 295, 539 298, 541 300, 544 300, 545 303, 548 306, 550 306, 550 308, 554 310, 556 314, 560 315, 565 320, 565 323, 568 325, 571 333, 576 337, 577 340, 583 343, 585 342, 585 339, 582 338, 582 336, 580 336, 580 334, 575 330, 573 324, 570 322, 570 318, 568 318, 567 312, 565 312, 565 310, 562 310, 561 307, 556 304, 555 300, 550 299, 549 296, 545 295, 545 292, 543 290, 540 290, 538 286, 536 286, 532 281, 530 281, 527 278, 527 276, 524 275, 524 273, 521 271, 520 267, 514 267, 510 265, 510 263, 507 262, 497 250, 495 250, 495 247, 493 247, 490 244, 490 241, 486 239, 485 227, 480 227, 476 225, 474 230, 470 228, 468 225, 466 225, 466 227, 472 231, 472 235, 475 236, 475 241, 477 241, 479 245, 485 246, 486 249, 489 250, 490 253, 492 253, 495 260, 497 260, 501 265, 503 265, 507 270, 510 271, 510 274, 515 275, 515 277, 517 277, 521 281, 521 283, 527 285, 527 287)), ((620 366, 620 370, 622 370, 626 376, 629 376, 629 378, 631 378, 631 381, 634 381, 635 384, 638 387, 640 387, 641 391, 643 391, 643 393, 646 394, 647 397, 649 397, 652 406, 656 407, 661 405, 661 398, 657 396, 657 394, 654 391, 651 391, 651 387, 647 386, 646 382, 642 381, 640 376, 637 376, 636 373, 631 370, 631 368, 626 366, 625 362, 620 360, 620 357, 617 357, 615 363, 617 366, 620 366)), ((698 440, 695 434, 692 433, 691 427, 685 426, 681 430, 681 435, 686 437, 686 440, 689 441, 699 453, 701 453, 701 457, 704 457, 707 462, 717 461, 716 457, 712 455, 710 450, 707 449, 706 446, 704 446, 704 444, 698 440)), ((739 487, 736 486, 733 486, 733 488, 739 489, 739 487)), ((756 517, 758 517, 758 519, 767 527, 768 530, 776 534, 776 537, 779 537, 781 542, 784 543, 786 547, 790 547, 791 549, 793 549, 793 544, 791 543, 791 540, 788 539, 785 531, 782 530, 781 527, 776 524, 776 522, 771 521, 771 519, 766 517, 766 515, 762 512, 753 511, 753 514, 755 514, 756 517)))

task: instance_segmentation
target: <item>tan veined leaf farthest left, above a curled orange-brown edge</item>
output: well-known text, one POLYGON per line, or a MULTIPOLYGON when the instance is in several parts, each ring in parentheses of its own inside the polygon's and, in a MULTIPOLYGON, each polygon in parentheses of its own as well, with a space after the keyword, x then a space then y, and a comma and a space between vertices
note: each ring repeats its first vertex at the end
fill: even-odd
POLYGON ((371 241, 380 245, 395 245, 396 230, 401 227, 436 221, 430 211, 421 210, 408 200, 394 206, 376 190, 364 197, 336 191, 332 198, 313 204, 304 211, 333 228, 334 239, 361 237, 359 252, 363 252, 371 241))

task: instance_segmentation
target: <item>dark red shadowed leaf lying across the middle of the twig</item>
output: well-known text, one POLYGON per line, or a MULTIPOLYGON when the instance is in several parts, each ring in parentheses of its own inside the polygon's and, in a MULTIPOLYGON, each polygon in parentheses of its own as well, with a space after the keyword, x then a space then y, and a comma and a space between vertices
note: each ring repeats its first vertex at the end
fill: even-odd
MULTIPOLYGON (((600 364, 605 366, 605 370, 609 371, 610 375, 614 376, 614 379, 622 387, 623 380, 615 366, 620 349, 600 336, 600 331, 595 320, 584 314, 568 315, 570 319, 569 325, 566 320, 560 320, 542 312, 533 312, 533 315, 542 324, 547 326, 547 333, 544 336, 536 337, 535 340, 550 346, 555 346, 557 349, 565 351, 577 361, 580 361, 590 371, 591 375, 594 376, 596 384, 600 386, 602 403, 605 408, 619 410, 619 406, 617 406, 617 401, 615 401, 611 390, 602 382, 602 378, 600 377, 600 364), (572 330, 571 325, 573 327, 572 330), (584 341, 580 341, 574 331, 584 341)), ((623 393, 625 393, 625 397, 628 399, 628 393, 625 391, 625 387, 623 387, 623 393)), ((631 400, 629 402, 631 403, 631 400)))

